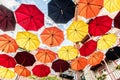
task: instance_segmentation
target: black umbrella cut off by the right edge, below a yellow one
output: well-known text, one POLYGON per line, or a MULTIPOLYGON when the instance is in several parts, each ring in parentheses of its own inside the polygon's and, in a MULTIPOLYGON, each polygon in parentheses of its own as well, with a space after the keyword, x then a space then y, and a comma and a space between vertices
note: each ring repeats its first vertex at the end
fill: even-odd
POLYGON ((115 46, 113 48, 110 48, 105 55, 108 60, 116 60, 120 58, 120 47, 115 46))

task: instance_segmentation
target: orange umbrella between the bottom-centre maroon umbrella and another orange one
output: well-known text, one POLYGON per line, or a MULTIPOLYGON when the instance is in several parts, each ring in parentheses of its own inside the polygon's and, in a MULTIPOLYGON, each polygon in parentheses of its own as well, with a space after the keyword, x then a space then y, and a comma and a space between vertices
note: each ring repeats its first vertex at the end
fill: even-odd
POLYGON ((71 69, 73 70, 83 70, 87 65, 87 59, 84 57, 76 58, 71 62, 71 69))

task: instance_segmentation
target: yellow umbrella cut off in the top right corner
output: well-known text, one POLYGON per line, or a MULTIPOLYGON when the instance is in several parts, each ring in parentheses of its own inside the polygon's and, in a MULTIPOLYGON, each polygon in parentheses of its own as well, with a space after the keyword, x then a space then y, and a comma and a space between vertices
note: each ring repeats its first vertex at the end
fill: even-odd
POLYGON ((104 0, 104 7, 109 12, 120 10, 120 0, 104 0))

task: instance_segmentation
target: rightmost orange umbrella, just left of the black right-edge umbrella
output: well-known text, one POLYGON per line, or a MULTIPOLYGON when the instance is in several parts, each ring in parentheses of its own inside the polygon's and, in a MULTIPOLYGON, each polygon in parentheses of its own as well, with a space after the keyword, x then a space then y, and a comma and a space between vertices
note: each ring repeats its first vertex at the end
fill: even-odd
POLYGON ((104 58, 104 54, 100 51, 96 51, 89 56, 88 64, 95 66, 97 64, 100 64, 103 58, 104 58))

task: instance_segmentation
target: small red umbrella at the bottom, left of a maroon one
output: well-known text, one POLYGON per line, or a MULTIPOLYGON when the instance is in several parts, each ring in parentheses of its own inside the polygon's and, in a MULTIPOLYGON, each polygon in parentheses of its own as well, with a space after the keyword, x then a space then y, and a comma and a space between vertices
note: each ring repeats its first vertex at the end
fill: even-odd
POLYGON ((32 69, 32 72, 38 77, 45 77, 50 73, 50 68, 44 64, 35 65, 35 67, 32 69))

